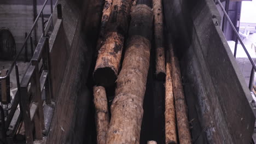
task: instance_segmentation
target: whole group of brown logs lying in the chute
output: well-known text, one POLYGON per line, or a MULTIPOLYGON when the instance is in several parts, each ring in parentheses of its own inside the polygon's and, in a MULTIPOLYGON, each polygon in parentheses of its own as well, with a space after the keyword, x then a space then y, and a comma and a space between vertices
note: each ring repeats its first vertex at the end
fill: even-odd
POLYGON ((136 5, 137 0, 111 3, 112 0, 106 0, 103 8, 97 43, 100 50, 94 71, 97 143, 139 143, 153 23, 156 77, 165 80, 165 143, 191 143, 181 71, 171 43, 165 57, 161 0, 153 0, 153 10, 148 4, 136 5), (129 35, 118 75, 129 16, 129 35), (115 82, 109 117, 105 88, 115 82))

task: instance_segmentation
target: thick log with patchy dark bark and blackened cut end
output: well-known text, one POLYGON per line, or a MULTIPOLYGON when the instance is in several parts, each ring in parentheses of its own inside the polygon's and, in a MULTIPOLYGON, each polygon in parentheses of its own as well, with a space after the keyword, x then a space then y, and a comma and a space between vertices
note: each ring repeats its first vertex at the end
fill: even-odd
POLYGON ((94 70, 94 80, 97 85, 109 87, 117 80, 124 38, 129 24, 132 0, 114 0, 106 33, 94 70))

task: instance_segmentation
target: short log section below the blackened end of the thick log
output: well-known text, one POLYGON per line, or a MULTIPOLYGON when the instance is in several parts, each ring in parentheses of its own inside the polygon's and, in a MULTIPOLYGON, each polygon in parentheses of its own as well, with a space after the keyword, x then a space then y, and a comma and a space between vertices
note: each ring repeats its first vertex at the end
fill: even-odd
POLYGON ((94 105, 96 111, 97 143, 105 144, 109 125, 108 100, 105 88, 94 87, 94 105))

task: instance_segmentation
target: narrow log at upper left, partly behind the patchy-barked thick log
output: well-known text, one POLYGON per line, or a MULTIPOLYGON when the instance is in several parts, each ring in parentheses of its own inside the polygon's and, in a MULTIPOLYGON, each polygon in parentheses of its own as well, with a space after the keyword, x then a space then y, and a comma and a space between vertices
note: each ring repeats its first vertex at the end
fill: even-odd
POLYGON ((96 56, 98 55, 98 50, 100 50, 103 43, 104 32, 105 32, 108 18, 111 12, 112 3, 113 3, 113 0, 105 0, 105 4, 102 10, 102 17, 101 17, 101 29, 100 29, 100 34, 98 35, 97 46, 96 46, 96 56))

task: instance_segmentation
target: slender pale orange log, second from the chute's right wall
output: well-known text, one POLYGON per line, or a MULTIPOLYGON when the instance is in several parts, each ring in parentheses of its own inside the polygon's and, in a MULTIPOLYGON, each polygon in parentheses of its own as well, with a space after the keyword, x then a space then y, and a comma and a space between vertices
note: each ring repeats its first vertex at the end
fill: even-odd
POLYGON ((176 117, 172 86, 172 69, 170 50, 166 53, 166 79, 165 79, 165 143, 177 143, 176 117))

